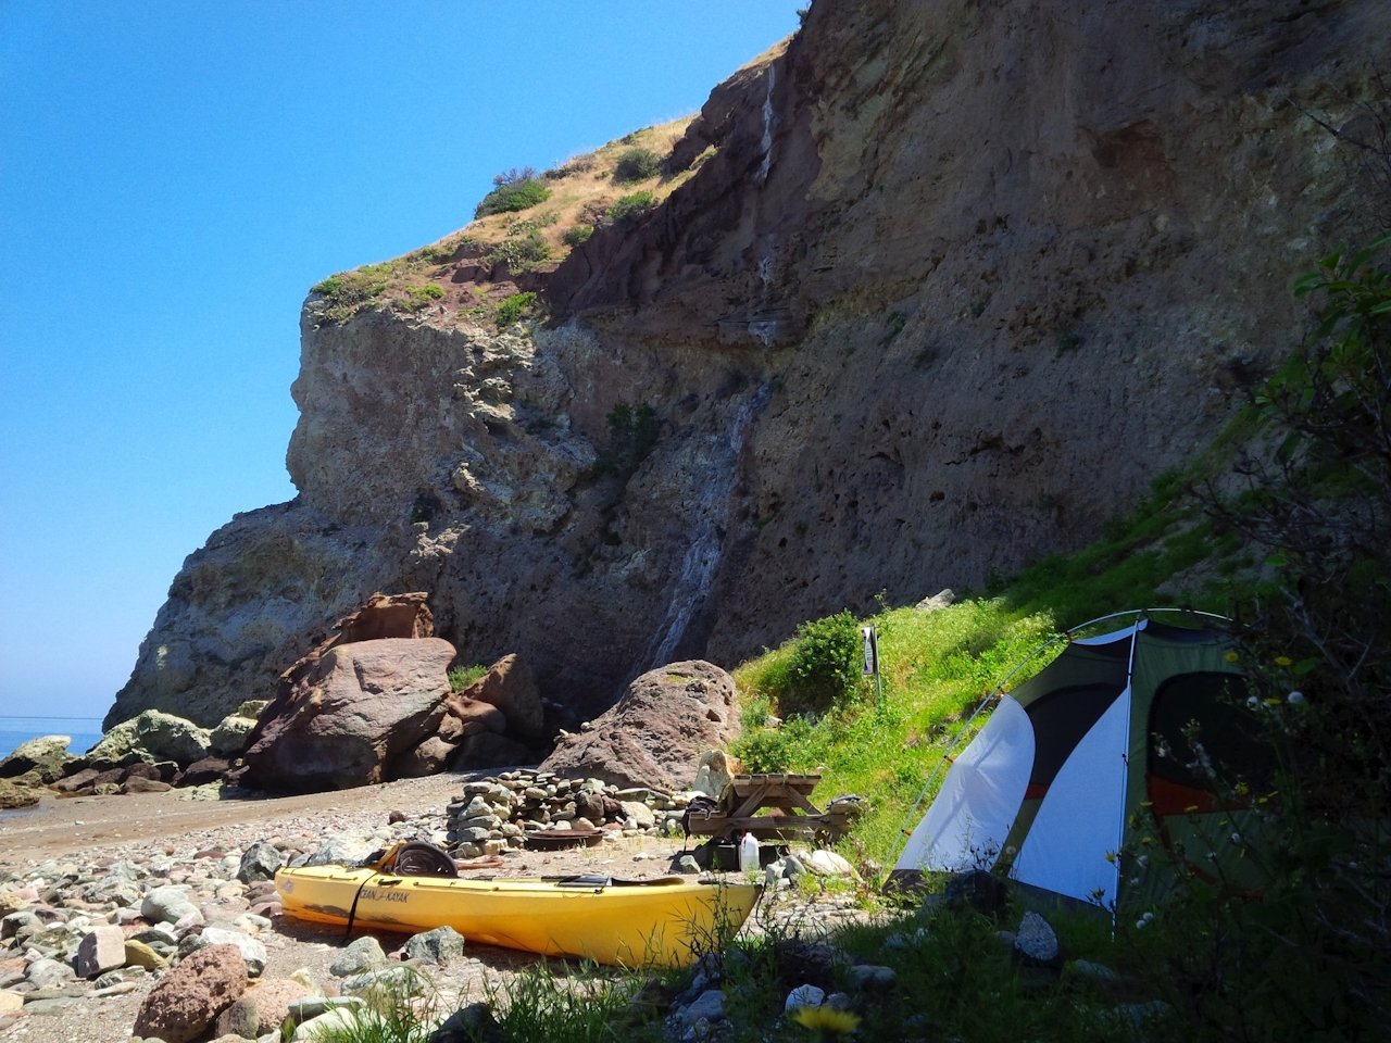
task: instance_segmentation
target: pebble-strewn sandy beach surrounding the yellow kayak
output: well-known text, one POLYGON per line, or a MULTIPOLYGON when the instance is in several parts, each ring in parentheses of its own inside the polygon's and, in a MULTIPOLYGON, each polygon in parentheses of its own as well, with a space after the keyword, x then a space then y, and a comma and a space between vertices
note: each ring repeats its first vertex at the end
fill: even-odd
MULTIPOLYGON (((300 980, 327 996, 337 994, 341 979, 328 967, 342 954, 342 932, 277 915, 278 904, 266 905, 274 898, 268 884, 236 879, 241 855, 262 841, 274 844, 287 859, 330 840, 384 846, 419 837, 438 843, 449 826, 449 804, 460 798, 465 784, 484 775, 440 775, 262 800, 189 800, 189 791, 46 797, 33 811, 0 818, 0 911, 13 914, 4 921, 0 943, 7 946, 0 948, 0 1040, 129 1040, 140 1003, 160 975, 127 965, 95 980, 74 978, 63 965, 64 946, 71 953, 75 940, 110 925, 120 925, 127 939, 154 937, 149 933, 154 918, 139 915, 142 896, 168 884, 186 889, 196 919, 207 928, 238 932, 264 947, 262 980, 300 972, 300 980), (391 818, 399 820, 392 823, 391 818), (46 954, 54 958, 40 962, 46 954), (4 1000, 6 994, 14 998, 4 1000)), ((570 851, 508 850, 501 871, 463 875, 602 872, 643 879, 670 872, 683 850, 680 839, 626 832, 570 851)), ((783 887, 772 903, 779 919, 821 928, 860 915, 847 896, 821 896, 812 903, 786 882, 783 887)), ((750 926, 757 929, 753 921, 750 926)), ((362 933, 355 932, 355 937, 362 933)), ((401 958, 405 935, 376 937, 388 958, 401 958)), ((184 937, 178 946, 166 943, 164 954, 186 948, 184 937)), ((485 979, 499 983, 536 960, 470 941, 462 957, 424 969, 438 992, 440 1008, 451 1011, 483 998, 485 979)))

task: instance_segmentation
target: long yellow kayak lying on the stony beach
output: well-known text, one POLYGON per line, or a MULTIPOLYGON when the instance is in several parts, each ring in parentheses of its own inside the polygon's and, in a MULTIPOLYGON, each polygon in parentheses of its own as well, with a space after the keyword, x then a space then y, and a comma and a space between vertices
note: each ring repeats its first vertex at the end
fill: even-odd
POLYGON ((469 941, 619 967, 686 967, 733 935, 758 901, 755 884, 689 883, 680 876, 613 884, 569 880, 465 880, 395 876, 320 865, 281 869, 285 914, 415 933, 451 926, 469 941), (353 904, 356 903, 356 908, 353 904))

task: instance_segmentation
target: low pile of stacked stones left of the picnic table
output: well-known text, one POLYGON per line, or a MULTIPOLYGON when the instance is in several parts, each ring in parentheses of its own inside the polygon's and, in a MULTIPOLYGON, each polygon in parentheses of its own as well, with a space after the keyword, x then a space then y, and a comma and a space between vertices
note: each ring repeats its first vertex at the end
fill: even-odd
POLYGON ((456 844, 460 858, 477 858, 523 847, 527 834, 540 832, 600 829, 615 840, 676 836, 697 795, 517 769, 467 783, 463 795, 449 804, 447 840, 456 844))

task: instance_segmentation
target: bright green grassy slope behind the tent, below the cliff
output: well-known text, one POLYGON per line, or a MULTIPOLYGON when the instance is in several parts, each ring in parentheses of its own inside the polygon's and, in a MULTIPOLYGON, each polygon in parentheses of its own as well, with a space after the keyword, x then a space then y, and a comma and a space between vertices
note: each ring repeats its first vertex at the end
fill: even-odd
MULTIPOLYGON (((1188 476, 1207 473, 1221 446, 1249 428, 1239 417, 1188 476)), ((879 630, 883 698, 861 679, 819 718, 789 716, 765 727, 790 695, 797 638, 734 670, 744 734, 734 745, 748 770, 819 772, 817 798, 857 793, 869 815, 844 841, 846 854, 886 859, 904 818, 971 711, 1025 656, 1059 631, 1134 608, 1192 606, 1223 612, 1238 573, 1253 562, 1235 537, 1216 537, 1175 476, 1161 476, 1128 519, 1114 519, 1097 542, 1045 558, 999 591, 964 597, 947 609, 886 608, 864 620, 879 630)), ((925 591, 931 594, 932 591, 925 591)), ((1008 687, 1043 669, 1059 642, 1031 661, 1008 687)), ((972 730, 983 719, 976 719, 972 730)), ((960 752, 960 751, 958 751, 960 752)), ((940 784, 940 776, 933 789, 940 784)), ((928 800, 935 794, 928 794, 928 800)))

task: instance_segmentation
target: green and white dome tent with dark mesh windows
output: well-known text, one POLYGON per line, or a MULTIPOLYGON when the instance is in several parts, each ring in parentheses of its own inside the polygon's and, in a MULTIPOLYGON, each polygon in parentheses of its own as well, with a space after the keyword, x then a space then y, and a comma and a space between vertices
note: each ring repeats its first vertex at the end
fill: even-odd
POLYGON ((1189 722, 1225 776, 1264 773, 1231 638, 1120 615, 1135 622, 1089 638, 1074 634, 1091 624, 1077 627, 1038 674, 996 691, 995 712, 951 763, 890 882, 990 869, 1113 907, 1135 879, 1123 847, 1148 839, 1181 855, 1214 825, 1205 819, 1223 815, 1210 782, 1188 768, 1199 759, 1189 722))

